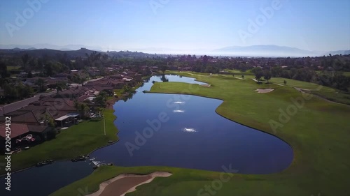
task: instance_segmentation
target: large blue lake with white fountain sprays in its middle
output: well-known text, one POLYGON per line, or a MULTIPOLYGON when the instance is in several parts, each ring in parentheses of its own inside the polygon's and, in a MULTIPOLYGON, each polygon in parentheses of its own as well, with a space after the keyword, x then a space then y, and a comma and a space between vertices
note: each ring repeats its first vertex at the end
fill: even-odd
MULTIPOLYGON (((169 82, 204 84, 190 77, 166 77, 169 82)), ((292 162, 293 150, 285 142, 216 114, 222 100, 141 93, 151 89, 151 81, 160 82, 160 77, 151 77, 132 99, 114 105, 120 141, 92 156, 120 166, 162 165, 221 172, 223 165, 232 165, 244 174, 280 172, 292 162), (160 121, 160 114, 167 121, 160 121), (147 121, 153 121, 154 126, 147 121)))

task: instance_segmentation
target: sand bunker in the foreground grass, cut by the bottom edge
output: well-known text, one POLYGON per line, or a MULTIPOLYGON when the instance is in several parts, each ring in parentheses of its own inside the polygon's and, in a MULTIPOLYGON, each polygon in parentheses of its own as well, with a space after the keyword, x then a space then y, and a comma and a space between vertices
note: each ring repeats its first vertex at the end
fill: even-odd
POLYGON ((150 183, 155 177, 168 177, 171 175, 168 172, 153 172, 147 175, 120 174, 101 183, 99 190, 88 196, 125 196, 125 194, 135 191, 137 186, 150 183))

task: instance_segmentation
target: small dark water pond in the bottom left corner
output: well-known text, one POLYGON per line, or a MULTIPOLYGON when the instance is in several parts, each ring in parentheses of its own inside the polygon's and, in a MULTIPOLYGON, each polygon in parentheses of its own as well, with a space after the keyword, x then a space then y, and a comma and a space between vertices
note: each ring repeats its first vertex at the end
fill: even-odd
MULTIPOLYGON (((11 190, 5 190, 5 176, 1 176, 0 195, 47 196, 59 188, 83 179, 93 172, 87 162, 59 161, 43 167, 33 167, 11 174, 11 190)), ((83 187, 82 190, 85 190, 83 187)))

